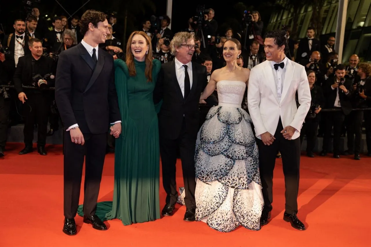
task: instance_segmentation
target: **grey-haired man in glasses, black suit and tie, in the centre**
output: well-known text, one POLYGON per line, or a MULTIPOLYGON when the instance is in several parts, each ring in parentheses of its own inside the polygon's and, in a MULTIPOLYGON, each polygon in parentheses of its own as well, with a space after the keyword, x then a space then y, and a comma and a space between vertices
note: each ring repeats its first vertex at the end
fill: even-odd
POLYGON ((198 102, 207 85, 207 74, 205 66, 191 61, 196 48, 193 34, 175 34, 170 47, 175 59, 162 64, 154 90, 154 102, 163 100, 158 114, 162 183, 167 194, 162 215, 171 216, 178 199, 175 164, 179 148, 184 179, 184 203, 187 208, 184 220, 194 221, 194 152, 200 118, 198 102))

